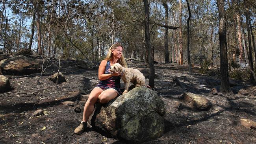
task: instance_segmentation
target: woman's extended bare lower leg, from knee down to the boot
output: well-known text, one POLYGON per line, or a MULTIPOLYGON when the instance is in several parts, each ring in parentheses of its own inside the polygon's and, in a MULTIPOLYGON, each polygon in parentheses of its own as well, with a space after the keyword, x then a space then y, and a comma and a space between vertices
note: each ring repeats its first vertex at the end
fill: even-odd
POLYGON ((93 113, 94 105, 98 100, 98 96, 102 92, 103 92, 103 90, 98 88, 98 87, 94 88, 91 91, 91 93, 89 95, 89 98, 88 98, 88 100, 85 103, 84 108, 83 108, 83 122, 87 122, 89 116, 91 115, 91 113, 93 113))

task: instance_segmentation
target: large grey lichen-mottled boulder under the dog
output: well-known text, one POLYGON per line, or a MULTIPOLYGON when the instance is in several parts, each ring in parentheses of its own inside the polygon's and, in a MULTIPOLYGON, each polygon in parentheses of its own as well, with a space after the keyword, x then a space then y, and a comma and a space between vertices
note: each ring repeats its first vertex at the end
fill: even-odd
POLYGON ((91 125, 129 143, 161 137, 164 133, 163 101, 147 87, 135 87, 102 107, 96 106, 91 125))

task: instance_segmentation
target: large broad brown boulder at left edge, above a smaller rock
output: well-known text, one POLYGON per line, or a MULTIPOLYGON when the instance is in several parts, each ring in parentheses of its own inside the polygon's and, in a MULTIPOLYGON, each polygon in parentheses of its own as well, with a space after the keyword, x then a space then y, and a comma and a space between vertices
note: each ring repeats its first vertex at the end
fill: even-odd
POLYGON ((24 55, 17 55, 0 62, 3 74, 7 75, 26 75, 40 72, 39 63, 24 55))

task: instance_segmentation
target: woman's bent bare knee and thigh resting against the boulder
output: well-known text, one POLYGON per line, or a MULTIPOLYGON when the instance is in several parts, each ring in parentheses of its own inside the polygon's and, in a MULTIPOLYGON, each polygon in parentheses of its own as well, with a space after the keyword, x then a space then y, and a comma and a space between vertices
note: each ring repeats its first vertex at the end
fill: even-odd
POLYGON ((98 96, 100 103, 107 103, 118 96, 118 93, 114 89, 106 89, 98 96))

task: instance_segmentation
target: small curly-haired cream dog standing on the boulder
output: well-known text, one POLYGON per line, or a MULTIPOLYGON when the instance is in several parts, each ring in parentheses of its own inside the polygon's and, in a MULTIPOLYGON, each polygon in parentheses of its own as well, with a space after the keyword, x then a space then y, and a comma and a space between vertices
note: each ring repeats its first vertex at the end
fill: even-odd
POLYGON ((124 68, 119 63, 115 63, 113 66, 110 66, 109 70, 111 72, 121 73, 121 79, 124 81, 124 92, 128 92, 130 82, 135 84, 136 87, 145 86, 145 76, 134 68, 124 68))

